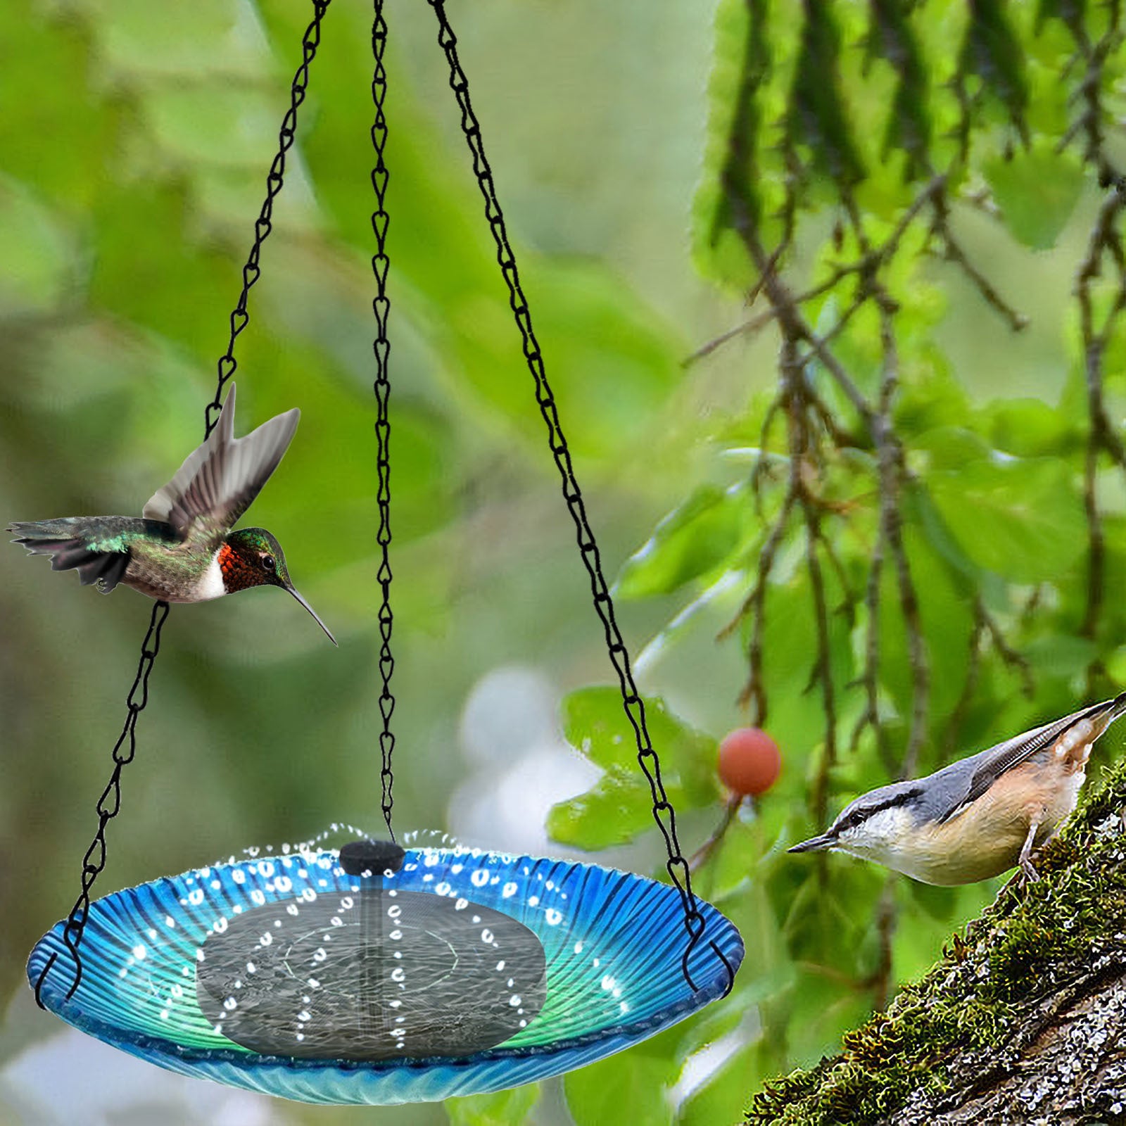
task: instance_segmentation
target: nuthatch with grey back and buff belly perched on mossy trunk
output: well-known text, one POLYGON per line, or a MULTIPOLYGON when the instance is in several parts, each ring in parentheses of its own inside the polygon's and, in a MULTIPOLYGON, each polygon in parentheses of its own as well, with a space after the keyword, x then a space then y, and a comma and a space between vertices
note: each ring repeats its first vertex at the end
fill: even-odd
POLYGON ((1067 819, 1091 747, 1126 713, 1126 692, 858 797, 790 852, 840 849, 924 884, 972 884, 1016 865, 1038 878, 1033 850, 1067 819))

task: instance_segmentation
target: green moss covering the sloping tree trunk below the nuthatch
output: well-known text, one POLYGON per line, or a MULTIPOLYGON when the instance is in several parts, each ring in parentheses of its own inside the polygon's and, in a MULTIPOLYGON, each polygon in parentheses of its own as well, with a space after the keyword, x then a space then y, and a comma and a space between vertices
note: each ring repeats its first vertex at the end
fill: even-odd
POLYGON ((841 1054, 767 1084, 747 1115, 756 1126, 875 1123, 913 1091, 940 1092, 950 1064, 995 1048, 1053 983, 1111 940, 1126 917, 1126 762, 1103 772, 1038 858, 1042 879, 1008 890, 887 1012, 844 1036, 841 1054))

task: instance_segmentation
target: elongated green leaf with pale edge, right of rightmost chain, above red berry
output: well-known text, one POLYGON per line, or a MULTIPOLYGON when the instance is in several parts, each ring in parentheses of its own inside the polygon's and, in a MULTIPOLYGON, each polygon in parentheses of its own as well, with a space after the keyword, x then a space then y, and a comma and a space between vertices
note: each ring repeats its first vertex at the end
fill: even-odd
POLYGON ((667 595, 711 571, 740 544, 749 507, 741 486, 697 489, 626 560, 615 593, 622 598, 667 595))

